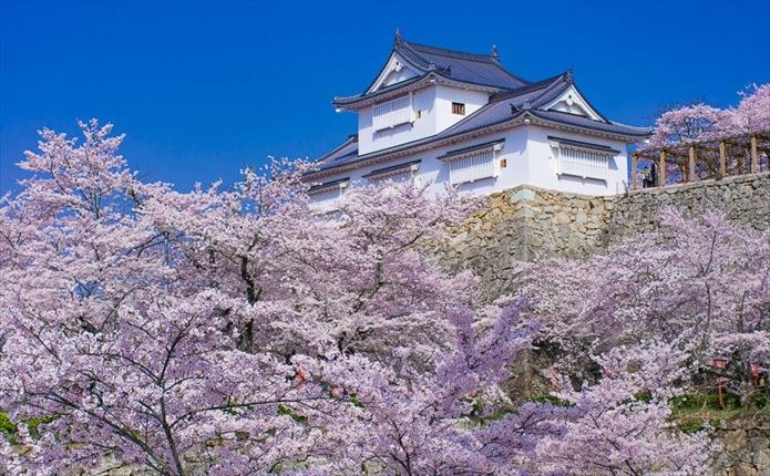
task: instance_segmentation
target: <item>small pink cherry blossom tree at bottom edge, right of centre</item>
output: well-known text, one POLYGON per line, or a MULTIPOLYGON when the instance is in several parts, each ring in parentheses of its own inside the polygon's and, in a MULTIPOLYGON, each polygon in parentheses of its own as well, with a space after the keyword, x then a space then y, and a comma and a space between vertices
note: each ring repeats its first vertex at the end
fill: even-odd
POLYGON ((562 438, 537 447, 540 470, 573 474, 699 474, 717 445, 705 433, 684 435, 669 422, 670 384, 686 354, 659 342, 613 349, 596 358, 604 377, 579 391, 564 384, 558 396, 574 406, 562 438), (628 369, 634 368, 634 372, 628 369), (651 401, 639 399, 640 391, 651 401), (694 452, 699 447, 701 452, 694 452))

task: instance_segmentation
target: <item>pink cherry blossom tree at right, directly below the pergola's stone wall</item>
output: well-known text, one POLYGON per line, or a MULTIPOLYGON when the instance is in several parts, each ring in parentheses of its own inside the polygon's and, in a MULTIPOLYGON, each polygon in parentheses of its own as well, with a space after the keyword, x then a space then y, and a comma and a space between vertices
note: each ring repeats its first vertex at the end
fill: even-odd
POLYGON ((671 209, 663 223, 586 261, 528 265, 521 286, 572 372, 585 375, 592 355, 660 339, 687 352, 692 372, 728 358, 739 391, 752 362, 770 368, 770 232, 718 213, 687 219, 671 209))

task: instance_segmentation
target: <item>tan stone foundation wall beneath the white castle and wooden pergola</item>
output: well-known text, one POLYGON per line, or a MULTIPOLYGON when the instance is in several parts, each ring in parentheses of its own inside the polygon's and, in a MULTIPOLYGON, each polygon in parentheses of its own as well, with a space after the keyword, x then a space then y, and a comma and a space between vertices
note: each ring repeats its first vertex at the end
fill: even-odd
POLYGON ((660 211, 686 216, 723 210, 739 224, 770 228, 770 174, 595 197, 520 186, 491 195, 487 205, 456 230, 442 250, 451 271, 471 269, 484 297, 509 290, 519 260, 546 256, 583 258, 625 238, 660 229, 660 211))

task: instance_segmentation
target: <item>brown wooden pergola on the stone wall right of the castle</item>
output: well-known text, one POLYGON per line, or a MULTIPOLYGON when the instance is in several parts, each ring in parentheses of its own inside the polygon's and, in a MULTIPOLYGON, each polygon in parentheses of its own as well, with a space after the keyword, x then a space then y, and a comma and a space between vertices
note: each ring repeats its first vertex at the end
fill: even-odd
POLYGON ((768 170, 770 131, 649 148, 632 154, 632 188, 639 188, 637 166, 657 165, 655 186, 768 170))

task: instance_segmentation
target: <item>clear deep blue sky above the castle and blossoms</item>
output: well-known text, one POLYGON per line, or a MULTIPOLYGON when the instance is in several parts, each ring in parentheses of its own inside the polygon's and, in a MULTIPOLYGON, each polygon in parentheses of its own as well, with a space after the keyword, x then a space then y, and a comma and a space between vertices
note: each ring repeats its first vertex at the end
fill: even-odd
POLYGON ((99 117, 146 178, 227 183, 269 154, 317 157, 356 131, 360 92, 400 27, 528 80, 573 68, 610 118, 737 101, 770 81, 770 1, 14 2, 0 0, 0 192, 42 126, 99 117))

